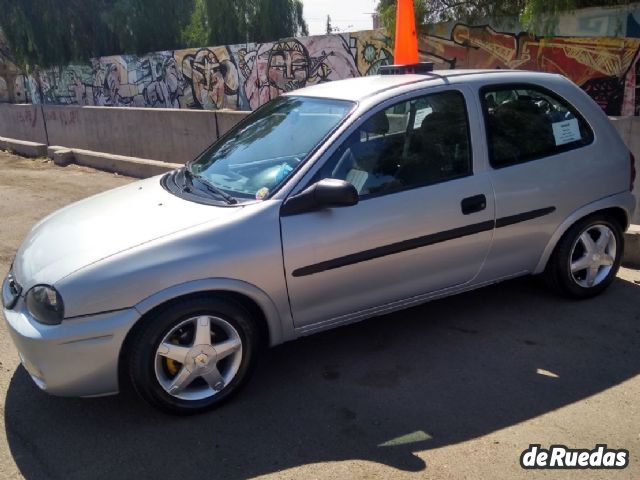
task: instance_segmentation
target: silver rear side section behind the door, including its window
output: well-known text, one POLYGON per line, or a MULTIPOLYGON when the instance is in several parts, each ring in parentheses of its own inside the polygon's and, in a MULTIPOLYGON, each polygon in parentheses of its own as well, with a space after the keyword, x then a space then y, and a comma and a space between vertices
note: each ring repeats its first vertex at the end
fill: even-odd
POLYGON ((568 98, 575 87, 558 80, 557 91, 526 83, 486 84, 480 96, 496 231, 484 279, 535 270, 556 228, 578 208, 610 194, 611 152, 568 98), (564 96, 566 95, 566 96, 564 96))

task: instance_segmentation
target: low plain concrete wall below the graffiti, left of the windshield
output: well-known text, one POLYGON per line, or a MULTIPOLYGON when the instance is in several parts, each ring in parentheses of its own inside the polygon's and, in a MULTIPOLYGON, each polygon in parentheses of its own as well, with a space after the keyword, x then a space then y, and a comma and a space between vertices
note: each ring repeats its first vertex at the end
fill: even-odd
POLYGON ((185 163, 246 115, 248 112, 2 105, 0 137, 185 163))

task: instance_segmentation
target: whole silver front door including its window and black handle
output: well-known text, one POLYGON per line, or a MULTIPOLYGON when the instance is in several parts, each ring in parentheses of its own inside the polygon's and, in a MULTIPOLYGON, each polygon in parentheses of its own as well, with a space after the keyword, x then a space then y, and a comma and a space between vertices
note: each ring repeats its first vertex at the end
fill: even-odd
POLYGON ((281 217, 297 328, 393 308, 478 274, 494 201, 486 173, 474 174, 467 95, 417 95, 365 116, 309 182, 347 180, 359 203, 281 217))

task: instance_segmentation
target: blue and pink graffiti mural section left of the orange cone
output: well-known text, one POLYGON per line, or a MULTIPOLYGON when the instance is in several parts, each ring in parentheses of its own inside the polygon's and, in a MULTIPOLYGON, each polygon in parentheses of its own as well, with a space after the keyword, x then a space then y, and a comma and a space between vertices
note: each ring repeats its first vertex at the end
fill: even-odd
POLYGON ((391 63, 389 44, 381 31, 366 31, 118 55, 43 70, 25 83, 32 98, 51 104, 253 110, 296 88, 376 73, 391 63))

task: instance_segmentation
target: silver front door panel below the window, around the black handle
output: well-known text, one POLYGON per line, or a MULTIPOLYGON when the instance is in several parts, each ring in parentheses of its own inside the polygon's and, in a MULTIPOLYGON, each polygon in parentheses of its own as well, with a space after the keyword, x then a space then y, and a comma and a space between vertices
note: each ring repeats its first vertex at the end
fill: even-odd
POLYGON ((472 280, 491 245, 493 193, 480 174, 281 218, 296 327, 472 280), (486 208, 463 214, 467 197, 486 208))

